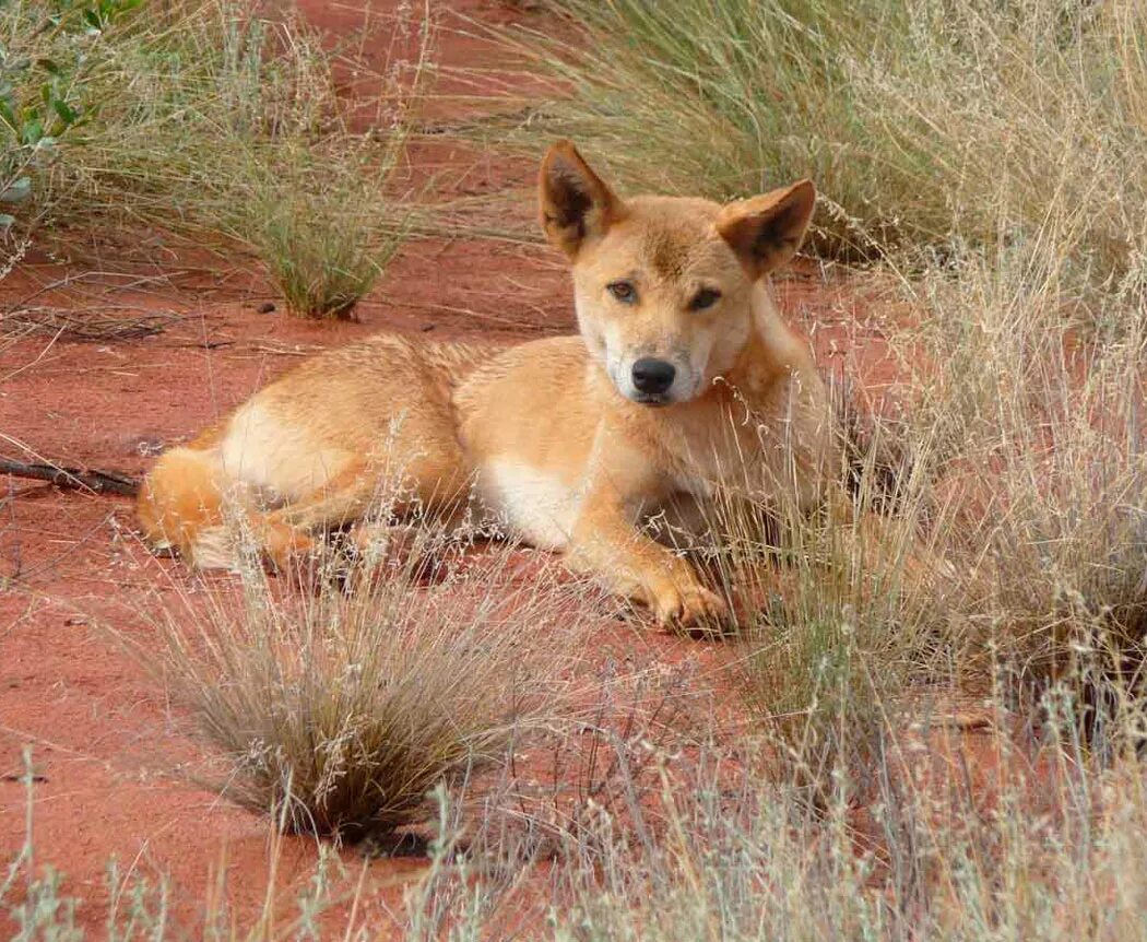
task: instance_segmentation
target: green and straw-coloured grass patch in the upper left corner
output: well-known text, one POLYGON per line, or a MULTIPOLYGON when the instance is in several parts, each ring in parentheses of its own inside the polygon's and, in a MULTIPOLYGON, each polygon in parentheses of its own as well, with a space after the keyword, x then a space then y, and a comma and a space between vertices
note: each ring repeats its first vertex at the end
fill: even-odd
POLYGON ((0 164, 0 201, 9 177, 28 184, 16 228, 64 249, 159 231, 177 244, 245 250, 292 311, 346 316, 405 238, 390 181, 429 72, 430 24, 407 10, 396 29, 420 37, 415 52, 377 76, 374 112, 352 116, 334 70, 366 80, 369 69, 326 50, 297 14, 120 0, 92 33, 84 5, 72 6, 56 29, 26 2, 0 11, 7 62, 31 56, 5 71, 13 101, 37 99, 47 62, 61 107, 77 116, 0 164))

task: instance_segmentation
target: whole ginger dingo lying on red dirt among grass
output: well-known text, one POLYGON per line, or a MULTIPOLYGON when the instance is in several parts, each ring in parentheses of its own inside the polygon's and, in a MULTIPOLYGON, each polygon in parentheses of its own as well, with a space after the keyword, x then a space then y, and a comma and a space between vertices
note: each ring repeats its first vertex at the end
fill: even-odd
POLYGON ((239 506, 282 562, 361 519, 400 468, 396 513, 478 507, 663 624, 719 618, 725 601, 642 521, 723 484, 819 500, 828 396, 767 283, 814 197, 804 180, 727 205, 623 200, 554 145, 541 221, 572 264, 580 336, 510 349, 375 336, 325 352, 159 459, 139 498, 147 538, 231 565, 224 509, 239 506))

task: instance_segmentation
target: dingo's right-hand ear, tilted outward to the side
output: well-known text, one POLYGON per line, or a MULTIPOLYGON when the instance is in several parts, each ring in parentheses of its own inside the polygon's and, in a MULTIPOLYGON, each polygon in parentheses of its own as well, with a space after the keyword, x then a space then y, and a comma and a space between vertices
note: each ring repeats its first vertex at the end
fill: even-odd
POLYGON ((774 189, 721 209, 717 232, 754 280, 788 262, 804 241, 817 203, 811 180, 774 189))

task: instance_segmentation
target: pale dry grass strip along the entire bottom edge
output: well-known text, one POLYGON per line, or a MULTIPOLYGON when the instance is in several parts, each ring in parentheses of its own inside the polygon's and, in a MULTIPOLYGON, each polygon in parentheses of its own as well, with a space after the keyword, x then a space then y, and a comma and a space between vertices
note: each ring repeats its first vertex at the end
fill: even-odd
MULTIPOLYGON (((744 744, 660 753, 651 787, 621 772, 622 789, 640 804, 640 830, 625 809, 591 808, 544 855, 521 827, 513 795, 485 803, 494 824, 475 841, 457 799, 439 789, 429 865, 408 874, 404 908, 380 904, 392 871, 364 863, 348 873, 337 856, 321 854, 297 900, 272 889, 251 925, 227 912, 220 874, 203 935, 1145 939, 1141 776, 1133 763, 1090 763, 1070 725, 1053 716, 1043 758, 1007 740, 996 744, 999 752, 969 749, 936 731, 929 756, 919 735, 885 729, 869 802, 857 807, 837 793, 820 811, 798 783, 762 778, 759 750, 744 744), (974 791, 970 777, 944 774, 967 773, 969 764, 990 793, 974 791)), ((17 939, 83 939, 79 901, 58 873, 40 867, 32 834, 0 883, 3 914, 17 939)), ((270 853, 280 853, 274 839, 270 853)), ((109 890, 110 937, 186 937, 162 877, 112 865, 109 890)))

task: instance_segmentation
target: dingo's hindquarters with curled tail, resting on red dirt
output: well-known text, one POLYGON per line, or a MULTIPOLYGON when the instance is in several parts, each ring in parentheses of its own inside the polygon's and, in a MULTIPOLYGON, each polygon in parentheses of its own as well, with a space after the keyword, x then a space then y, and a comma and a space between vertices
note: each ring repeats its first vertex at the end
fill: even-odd
POLYGON ((229 567, 245 530, 282 563, 375 511, 462 506, 451 389, 484 356, 380 336, 317 357, 158 460, 139 498, 145 535, 195 566, 229 567))

